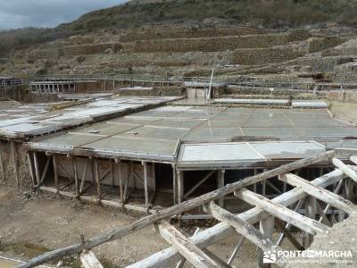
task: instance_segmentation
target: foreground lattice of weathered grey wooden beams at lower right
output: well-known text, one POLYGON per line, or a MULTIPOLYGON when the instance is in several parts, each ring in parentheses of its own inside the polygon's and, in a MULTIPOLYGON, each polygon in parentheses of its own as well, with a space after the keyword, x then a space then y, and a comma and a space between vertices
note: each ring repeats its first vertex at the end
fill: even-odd
MULTIPOLYGON (((350 160, 357 164, 356 156, 351 156, 350 160)), ((284 237, 301 250, 310 246, 312 236, 326 233, 335 222, 329 222, 326 216, 331 207, 335 207, 338 212, 343 213, 343 217, 339 216, 339 220, 344 219, 346 214, 357 214, 357 206, 347 200, 352 196, 356 187, 356 171, 357 166, 347 165, 336 159, 334 151, 328 151, 294 163, 286 163, 273 170, 247 177, 244 180, 228 184, 200 197, 184 201, 179 205, 156 211, 154 214, 145 216, 137 222, 87 239, 82 243, 39 255, 29 260, 27 264, 21 264, 19 268, 34 267, 65 255, 79 254, 83 250, 89 250, 105 242, 120 239, 151 224, 157 226, 162 238, 167 240, 171 247, 136 264, 129 265, 131 268, 167 267, 170 264, 177 264, 177 267, 182 267, 185 261, 195 267, 231 267, 232 261, 237 256, 239 248, 242 247, 244 239, 249 239, 259 247, 258 264, 262 266, 262 251, 279 249, 284 237), (301 177, 292 174, 292 172, 303 167, 331 159, 336 165, 336 169, 321 175, 315 180, 303 180, 301 177), (246 188, 254 183, 269 180, 276 176, 278 176, 279 180, 294 188, 273 199, 258 195, 246 188), (348 186, 348 188, 344 189, 345 197, 341 197, 338 192, 344 185, 348 186), (333 188, 333 192, 329 191, 328 188, 333 188), (221 197, 231 193, 253 205, 253 208, 240 214, 232 214, 215 203, 215 200, 219 200, 221 197), (322 208, 321 202, 326 203, 324 208, 322 208), (303 203, 305 204, 305 213, 301 214, 300 209, 303 203), (321 206, 320 210, 316 209, 316 207, 319 207, 317 204, 321 206), (203 206, 204 210, 212 214, 220 223, 209 229, 195 232, 194 236, 187 238, 167 222, 171 217, 199 206, 203 206), (286 222, 286 225, 282 222, 286 222), (259 223, 259 230, 254 227, 253 224, 255 223, 259 223), (282 230, 282 234, 276 242, 272 239, 272 231, 275 224, 278 230, 282 230), (303 243, 297 241, 289 233, 290 226, 295 226, 305 233, 303 243), (239 240, 228 261, 220 259, 206 249, 206 247, 221 239, 237 235, 237 233, 241 234, 244 239, 239 240)), ((286 260, 284 259, 277 262, 277 265, 281 267, 285 266, 285 264, 286 260)))

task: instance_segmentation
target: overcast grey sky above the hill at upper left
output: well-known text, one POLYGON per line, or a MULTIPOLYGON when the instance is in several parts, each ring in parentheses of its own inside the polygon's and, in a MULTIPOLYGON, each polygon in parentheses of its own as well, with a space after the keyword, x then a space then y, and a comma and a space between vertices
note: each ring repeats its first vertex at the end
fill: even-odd
POLYGON ((126 0, 0 0, 0 29, 54 27, 126 0))

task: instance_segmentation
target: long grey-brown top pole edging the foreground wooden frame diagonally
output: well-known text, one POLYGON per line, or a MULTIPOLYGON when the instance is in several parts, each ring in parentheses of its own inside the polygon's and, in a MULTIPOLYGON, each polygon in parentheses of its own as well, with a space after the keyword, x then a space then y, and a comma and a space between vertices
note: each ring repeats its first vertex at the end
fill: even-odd
MULTIPOLYGON (((294 163, 287 163, 287 164, 281 165, 280 167, 278 167, 276 169, 270 170, 268 172, 263 172, 263 173, 260 173, 258 175, 254 175, 251 177, 247 177, 244 180, 238 180, 235 183, 228 184, 224 188, 220 188, 220 189, 217 189, 210 193, 204 194, 201 197, 195 197, 191 200, 185 201, 182 204, 173 205, 170 208, 162 209, 157 214, 145 216, 144 218, 141 218, 140 220, 133 222, 129 225, 108 231, 108 232, 106 232, 102 235, 96 236, 92 239, 87 239, 87 242, 85 243, 85 245, 75 244, 75 245, 71 245, 68 247, 63 247, 60 249, 56 249, 56 250, 47 252, 43 255, 38 255, 37 257, 29 260, 28 263, 21 264, 21 266, 19 266, 19 268, 34 267, 39 264, 44 264, 50 260, 58 259, 65 255, 77 254, 77 253, 81 252, 84 248, 92 248, 92 247, 99 246, 105 242, 112 241, 114 239, 120 239, 120 238, 128 235, 129 233, 132 233, 133 231, 136 231, 136 230, 143 229, 146 226, 153 224, 154 222, 158 222, 162 219, 169 218, 176 214, 181 214, 185 211, 194 209, 195 207, 203 205, 207 202, 211 202, 212 200, 218 199, 220 197, 224 197, 234 191, 237 191, 239 188, 247 187, 249 185, 252 185, 253 183, 257 183, 259 181, 278 176, 279 174, 282 174, 282 173, 294 171, 294 170, 302 168, 306 165, 310 165, 313 163, 320 163, 321 161, 326 161, 326 160, 330 159, 331 157, 333 157, 334 155, 335 155, 334 151, 328 151, 328 152, 325 152, 325 153, 322 153, 319 155, 312 156, 307 159, 296 161, 294 163)), ((339 172, 336 172, 333 175, 334 175, 333 178, 335 178, 336 176, 342 176, 342 174, 339 172)), ((323 179, 328 179, 328 181, 329 181, 329 179, 331 179, 331 178, 324 177, 323 179)), ((290 193, 290 195, 292 195, 292 194, 290 193)), ((281 195, 281 196, 283 196, 283 195, 281 195)), ((304 193, 303 193, 303 191, 301 191, 298 194, 294 194, 292 196, 294 198, 301 197, 301 196, 304 197, 304 193)), ((291 200, 293 197, 289 198, 288 200, 291 200)), ((289 205, 291 205, 291 204, 289 204, 289 205)), ((252 214, 252 212, 250 212, 250 213, 252 214)), ((254 216, 261 215, 261 213, 262 213, 262 211, 260 211, 260 210, 255 211, 254 216)), ((227 225, 223 225, 223 226, 220 225, 219 227, 217 227, 217 229, 219 230, 219 231, 218 230, 217 231, 220 233, 220 235, 219 235, 220 238, 225 233, 230 233, 229 226, 227 226, 227 225)), ((203 231, 202 231, 202 233, 203 233, 203 231)), ((206 232, 204 232, 202 234, 203 237, 205 234, 206 234, 206 232)), ((199 236, 199 235, 200 235, 200 233, 197 234, 197 236, 199 236)), ((212 239, 212 237, 211 237, 209 240, 213 241, 214 239, 212 239)), ((204 241, 207 242, 206 239, 204 239, 204 241)), ((170 255, 176 254, 175 251, 168 250, 168 252, 170 253, 170 255)))

